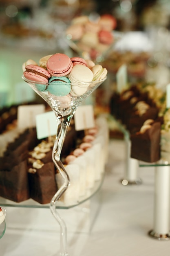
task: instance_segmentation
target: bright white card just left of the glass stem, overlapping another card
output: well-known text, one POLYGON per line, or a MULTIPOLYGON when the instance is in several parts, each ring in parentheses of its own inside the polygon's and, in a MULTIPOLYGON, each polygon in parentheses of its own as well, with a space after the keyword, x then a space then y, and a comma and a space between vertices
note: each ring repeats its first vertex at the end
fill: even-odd
POLYGON ((45 112, 36 116, 37 138, 44 139, 56 135, 57 120, 53 111, 45 112))

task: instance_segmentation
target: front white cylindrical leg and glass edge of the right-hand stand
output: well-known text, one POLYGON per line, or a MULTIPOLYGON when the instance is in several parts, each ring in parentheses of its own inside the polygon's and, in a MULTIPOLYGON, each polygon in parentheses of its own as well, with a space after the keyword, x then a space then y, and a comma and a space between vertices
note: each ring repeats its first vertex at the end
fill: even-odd
POLYGON ((158 240, 170 239, 170 164, 159 161, 155 164, 139 163, 141 167, 155 167, 153 229, 149 236, 158 240))

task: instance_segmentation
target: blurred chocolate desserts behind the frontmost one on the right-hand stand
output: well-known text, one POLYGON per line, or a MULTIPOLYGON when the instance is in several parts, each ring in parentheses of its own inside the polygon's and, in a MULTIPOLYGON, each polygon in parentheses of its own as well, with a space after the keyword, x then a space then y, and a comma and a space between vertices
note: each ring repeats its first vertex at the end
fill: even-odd
MULTIPOLYGON (((150 91, 155 91, 154 85, 150 86, 150 91)), ((115 93, 112 96, 111 112, 117 119, 121 119, 130 133, 139 131, 147 119, 155 120, 158 117, 160 106, 155 103, 155 99, 150 97, 146 88, 145 84, 134 84, 120 94, 115 93)), ((160 94, 159 97, 163 95, 160 94)))

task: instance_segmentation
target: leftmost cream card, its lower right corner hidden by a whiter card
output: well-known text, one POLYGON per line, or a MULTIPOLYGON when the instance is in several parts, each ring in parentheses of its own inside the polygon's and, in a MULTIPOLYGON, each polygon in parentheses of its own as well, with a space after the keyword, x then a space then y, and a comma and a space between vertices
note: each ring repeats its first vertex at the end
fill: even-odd
POLYGON ((36 126, 35 117, 45 112, 44 104, 23 105, 18 107, 18 128, 27 129, 36 126))

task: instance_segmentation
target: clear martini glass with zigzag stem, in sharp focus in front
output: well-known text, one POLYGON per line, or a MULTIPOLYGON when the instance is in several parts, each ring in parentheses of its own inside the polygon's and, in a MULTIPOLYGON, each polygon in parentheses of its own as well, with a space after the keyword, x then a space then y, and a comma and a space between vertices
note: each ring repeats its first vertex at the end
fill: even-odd
MULTIPOLYGON (((58 189, 50 203, 50 210, 57 222, 60 225, 60 256, 68 256, 66 249, 66 225, 62 217, 56 211, 57 200, 63 195, 63 193, 68 189, 70 185, 69 176, 60 160, 60 154, 62 151, 62 146, 64 139, 66 137, 66 132, 70 125, 71 119, 75 113, 75 110, 78 106, 84 101, 101 83, 103 83, 106 77, 103 80, 93 81, 93 82, 82 82, 82 83, 70 83, 68 84, 71 88, 71 91, 67 95, 63 95, 61 88, 63 85, 55 83, 39 83, 27 80, 24 76, 22 79, 29 83, 31 88, 40 95, 51 107, 55 113, 57 120, 57 132, 55 137, 55 142, 53 146, 52 159, 53 162, 62 176, 64 182, 63 185, 58 189), (53 89, 60 90, 60 95, 57 93, 50 93, 48 87, 53 86, 53 89), (58 87, 58 88, 57 88, 58 87), (75 92, 77 92, 75 94, 75 92)), ((55 90, 54 90, 55 91, 55 90)))

